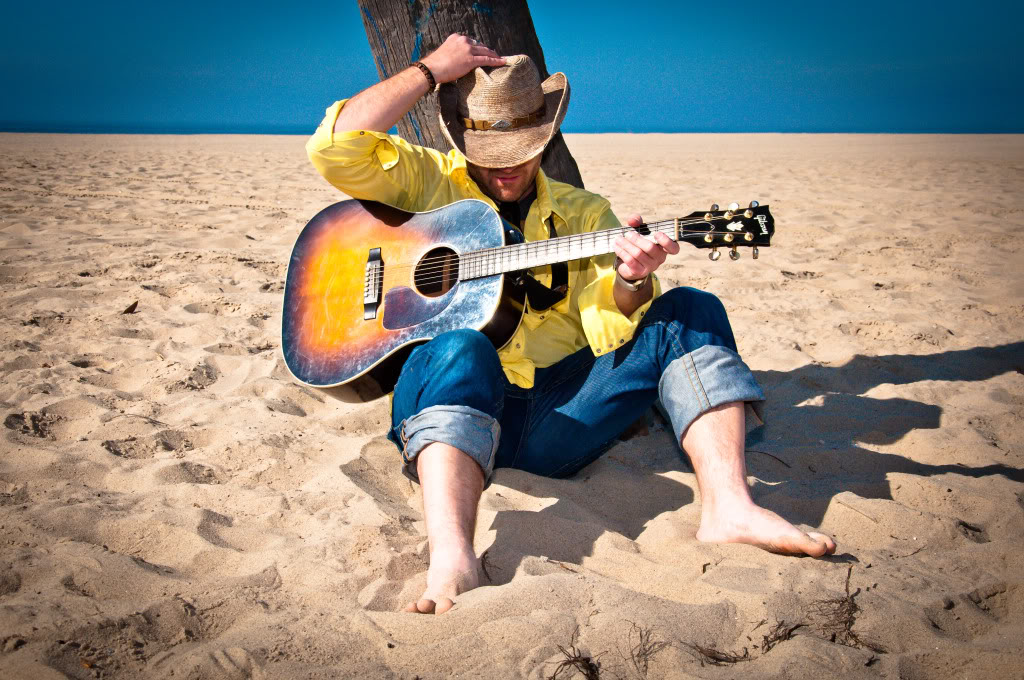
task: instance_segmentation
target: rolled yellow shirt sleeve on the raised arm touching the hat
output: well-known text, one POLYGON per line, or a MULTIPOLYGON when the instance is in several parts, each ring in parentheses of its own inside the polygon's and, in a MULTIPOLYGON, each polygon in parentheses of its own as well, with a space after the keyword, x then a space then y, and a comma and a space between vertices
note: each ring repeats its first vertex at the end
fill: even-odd
POLYGON ((452 159, 374 130, 335 132, 347 99, 328 108, 306 142, 316 171, 353 199, 379 201, 402 210, 429 210, 452 201, 452 159))

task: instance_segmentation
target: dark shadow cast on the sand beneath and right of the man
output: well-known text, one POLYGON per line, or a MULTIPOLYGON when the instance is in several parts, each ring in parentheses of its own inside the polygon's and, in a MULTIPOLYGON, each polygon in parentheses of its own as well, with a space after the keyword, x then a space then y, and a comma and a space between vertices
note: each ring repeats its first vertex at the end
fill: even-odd
MULTIPOLYGON (((891 472, 921 476, 1002 475, 1024 482, 1024 470, 1010 465, 928 465, 857 445, 893 443, 913 430, 940 426, 941 407, 863 396, 873 387, 921 381, 982 381, 1012 371, 1024 373, 1024 342, 926 355, 856 355, 839 367, 807 365, 793 371, 756 372, 769 395, 771 420, 748 435, 748 466, 764 481, 802 487, 802 502, 796 509, 792 505, 784 510, 773 508, 771 494, 758 498, 759 503, 780 510, 795 523, 818 525, 833 497, 842 492, 892 500, 888 481, 891 472), (777 460, 753 451, 769 453, 777 460), (795 458, 800 459, 799 464, 795 458)), ((990 396, 996 401, 1015 398, 1000 389, 993 389, 990 396)), ((645 452, 638 457, 641 460, 621 461, 629 473, 616 476, 614 493, 571 490, 571 502, 558 500, 539 512, 499 512, 490 528, 497 532, 493 551, 500 555, 503 566, 492 575, 494 582, 508 582, 519 561, 529 555, 579 564, 592 554, 594 543, 605 532, 635 540, 658 514, 693 502, 688 486, 657 474, 688 470, 688 462, 679 455, 678 448, 672 449, 668 443, 671 433, 662 434, 667 443, 658 448, 663 450, 645 452), (565 536, 572 539, 564 540, 565 536)), ((620 460, 614 452, 610 456, 620 460)), ((593 468, 585 468, 565 482, 544 480, 544 485, 591 483, 587 479, 593 468)), ((500 482, 536 494, 534 486, 541 483, 535 484, 538 479, 526 473, 506 472, 500 482)))

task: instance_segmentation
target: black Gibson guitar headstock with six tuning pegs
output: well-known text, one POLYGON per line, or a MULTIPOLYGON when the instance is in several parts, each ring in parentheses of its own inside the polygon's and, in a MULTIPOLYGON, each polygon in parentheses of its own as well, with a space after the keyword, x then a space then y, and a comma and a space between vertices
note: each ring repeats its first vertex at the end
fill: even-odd
POLYGON ((740 246, 754 249, 753 257, 758 257, 759 246, 770 246, 775 233, 775 219, 768 206, 751 201, 750 206, 740 210, 739 205, 729 204, 726 210, 719 210, 714 204, 706 212, 693 212, 680 220, 680 241, 687 241, 696 248, 710 248, 708 256, 717 260, 722 256, 719 248, 728 248, 729 257, 739 259, 740 246))

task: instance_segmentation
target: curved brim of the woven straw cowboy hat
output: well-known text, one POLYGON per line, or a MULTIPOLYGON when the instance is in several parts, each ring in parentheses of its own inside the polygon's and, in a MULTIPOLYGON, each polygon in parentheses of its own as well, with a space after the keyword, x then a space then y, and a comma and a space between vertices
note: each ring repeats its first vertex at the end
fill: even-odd
POLYGON ((562 121, 569 103, 569 82, 556 73, 541 83, 544 118, 532 125, 512 130, 469 130, 458 114, 458 90, 453 83, 438 91, 441 132, 466 160, 482 168, 508 168, 525 163, 544 151, 562 121))

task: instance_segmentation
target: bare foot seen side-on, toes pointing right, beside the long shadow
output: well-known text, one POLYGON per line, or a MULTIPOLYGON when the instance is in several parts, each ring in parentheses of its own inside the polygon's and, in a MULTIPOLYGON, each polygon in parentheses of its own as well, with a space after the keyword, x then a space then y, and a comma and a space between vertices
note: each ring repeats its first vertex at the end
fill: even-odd
POLYGON ((824 534, 802 532, 771 510, 753 503, 744 504, 742 509, 702 508, 697 541, 746 543, 783 555, 821 557, 836 552, 836 542, 824 534))

